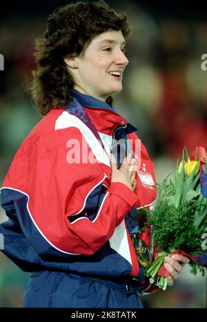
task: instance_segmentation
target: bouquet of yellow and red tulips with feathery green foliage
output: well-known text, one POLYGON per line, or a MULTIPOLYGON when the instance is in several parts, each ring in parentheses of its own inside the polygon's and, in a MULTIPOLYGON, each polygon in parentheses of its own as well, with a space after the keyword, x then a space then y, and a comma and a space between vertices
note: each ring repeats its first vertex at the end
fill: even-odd
POLYGON ((190 272, 204 275, 207 249, 207 161, 204 148, 199 147, 190 157, 184 148, 177 161, 175 183, 169 176, 157 184, 157 200, 153 210, 145 210, 150 224, 152 244, 163 252, 144 275, 166 290, 164 260, 168 254, 183 254, 190 259, 190 272))

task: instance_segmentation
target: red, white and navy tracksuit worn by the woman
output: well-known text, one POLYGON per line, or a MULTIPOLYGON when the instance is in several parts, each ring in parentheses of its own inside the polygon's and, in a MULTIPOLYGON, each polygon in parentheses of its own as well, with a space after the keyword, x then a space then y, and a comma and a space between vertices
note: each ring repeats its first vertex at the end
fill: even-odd
MULTIPOLYGON (((72 97, 14 156, 1 188, 2 251, 32 272, 23 306, 141 307, 137 293, 157 288, 143 276, 130 233, 139 232, 137 210, 155 202, 153 164, 115 108, 75 90, 72 97), (119 142, 117 163, 126 151, 139 162, 135 192, 110 182, 108 155, 119 142)), ((149 233, 140 236, 149 245, 149 233)))

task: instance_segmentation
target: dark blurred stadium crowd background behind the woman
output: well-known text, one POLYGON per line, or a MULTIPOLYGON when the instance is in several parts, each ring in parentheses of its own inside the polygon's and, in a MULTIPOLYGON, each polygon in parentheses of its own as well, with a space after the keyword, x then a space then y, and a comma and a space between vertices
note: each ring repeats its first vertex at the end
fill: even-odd
MULTIPOLYGON (((1 4, 0 184, 23 139, 41 119, 24 90, 34 68, 34 40, 55 8, 75 1, 15 1, 1 4)), ((175 172, 186 145, 207 150, 207 3, 110 1, 132 24, 123 90, 115 108, 137 126, 155 164, 157 181, 175 172)), ((0 208, 0 221, 6 215, 0 208)), ((0 307, 21 307, 28 274, 0 253, 0 307)), ((175 285, 143 296, 147 308, 206 308, 206 276, 184 267, 175 285)))

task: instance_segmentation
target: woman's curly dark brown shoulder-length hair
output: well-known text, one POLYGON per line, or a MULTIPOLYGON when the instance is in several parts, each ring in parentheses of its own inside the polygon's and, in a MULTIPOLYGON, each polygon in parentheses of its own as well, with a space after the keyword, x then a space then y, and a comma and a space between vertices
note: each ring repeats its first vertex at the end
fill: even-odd
MULTIPOLYGON (((32 71, 29 86, 35 108, 42 115, 72 100, 71 90, 75 84, 63 57, 84 54, 90 41, 108 30, 121 30, 126 39, 131 27, 126 14, 117 14, 103 0, 70 3, 50 14, 43 37, 36 40, 36 70, 32 71)), ((112 105, 112 97, 106 102, 112 105)))

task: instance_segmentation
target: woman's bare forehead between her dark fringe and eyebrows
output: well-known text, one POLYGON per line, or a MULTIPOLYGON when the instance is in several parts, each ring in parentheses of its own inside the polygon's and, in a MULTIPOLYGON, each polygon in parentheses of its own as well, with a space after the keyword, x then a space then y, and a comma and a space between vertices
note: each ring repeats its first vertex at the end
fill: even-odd
POLYGON ((102 34, 98 34, 94 39, 92 39, 90 46, 97 46, 104 42, 115 42, 115 43, 124 43, 124 37, 121 30, 109 30, 103 32, 102 34))

